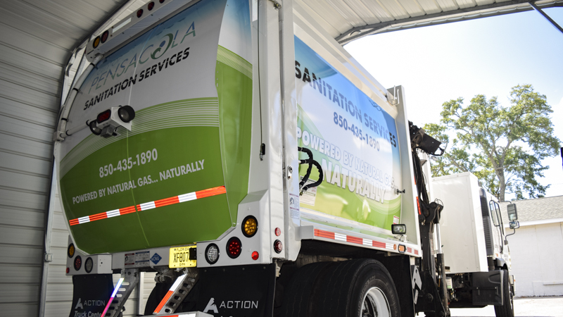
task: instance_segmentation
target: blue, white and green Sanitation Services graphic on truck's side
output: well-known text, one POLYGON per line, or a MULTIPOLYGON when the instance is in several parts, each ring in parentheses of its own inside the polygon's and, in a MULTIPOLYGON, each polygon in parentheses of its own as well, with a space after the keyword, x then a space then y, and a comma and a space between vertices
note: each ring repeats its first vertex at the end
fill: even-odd
MULTIPOLYGON (((295 37, 298 140, 324 173, 301 209, 391 229, 400 217, 400 155, 395 119, 295 37)), ((305 175, 307 165, 300 166, 305 175)), ((318 179, 313 172, 308 182, 318 179)))

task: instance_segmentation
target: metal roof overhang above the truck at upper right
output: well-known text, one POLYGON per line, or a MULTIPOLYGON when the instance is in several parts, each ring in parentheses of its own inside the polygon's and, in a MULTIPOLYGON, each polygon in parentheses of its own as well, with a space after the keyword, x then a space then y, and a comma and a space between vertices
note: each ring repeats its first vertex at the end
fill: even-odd
POLYGON ((377 33, 563 6, 563 0, 296 0, 340 44, 377 33))

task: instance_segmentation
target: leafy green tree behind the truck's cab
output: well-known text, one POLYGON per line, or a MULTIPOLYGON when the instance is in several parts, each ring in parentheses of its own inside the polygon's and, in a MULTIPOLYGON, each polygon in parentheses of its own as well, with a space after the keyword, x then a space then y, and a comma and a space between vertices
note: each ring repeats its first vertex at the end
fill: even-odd
POLYGON ((540 185, 541 161, 557 155, 560 141, 553 135, 551 106, 545 95, 531 85, 512 87, 510 106, 503 107, 497 97, 482 94, 464 106, 464 99, 445 102, 441 124, 424 125, 426 133, 449 142, 448 132, 455 132, 446 153, 434 161, 433 176, 472 172, 500 201, 505 193, 517 199, 543 197, 549 185, 540 185))

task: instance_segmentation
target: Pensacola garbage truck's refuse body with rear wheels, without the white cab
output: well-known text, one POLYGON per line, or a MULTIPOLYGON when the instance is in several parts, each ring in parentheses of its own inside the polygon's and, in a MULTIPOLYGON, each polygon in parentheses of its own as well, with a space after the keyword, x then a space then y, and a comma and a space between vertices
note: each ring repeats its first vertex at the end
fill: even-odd
POLYGON ((139 315, 450 315, 441 144, 303 5, 148 1, 89 41, 53 135, 70 316, 120 316, 143 272, 139 315))

